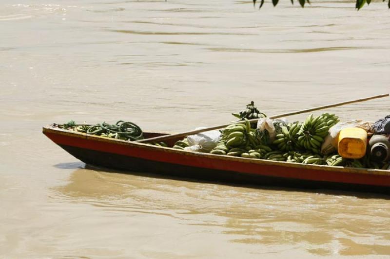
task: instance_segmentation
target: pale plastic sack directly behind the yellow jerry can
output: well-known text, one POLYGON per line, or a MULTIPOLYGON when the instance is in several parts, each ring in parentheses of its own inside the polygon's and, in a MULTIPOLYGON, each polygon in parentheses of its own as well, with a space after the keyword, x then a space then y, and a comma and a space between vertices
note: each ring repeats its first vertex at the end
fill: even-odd
POLYGON ((324 143, 321 145, 321 152, 324 155, 331 154, 337 151, 338 135, 342 129, 346 128, 361 128, 367 131, 368 135, 372 135, 371 126, 372 122, 362 120, 351 120, 338 122, 336 125, 329 129, 329 134, 325 138, 324 143))

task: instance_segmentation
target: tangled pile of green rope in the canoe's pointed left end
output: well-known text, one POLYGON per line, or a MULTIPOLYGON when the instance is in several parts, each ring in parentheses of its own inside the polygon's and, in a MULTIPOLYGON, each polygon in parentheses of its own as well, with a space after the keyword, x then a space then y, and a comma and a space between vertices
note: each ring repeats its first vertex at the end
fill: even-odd
POLYGON ((129 141, 144 138, 141 128, 130 121, 117 121, 115 124, 109 124, 104 121, 95 125, 76 124, 75 121, 69 121, 68 123, 59 125, 59 128, 106 138, 117 138, 129 141))

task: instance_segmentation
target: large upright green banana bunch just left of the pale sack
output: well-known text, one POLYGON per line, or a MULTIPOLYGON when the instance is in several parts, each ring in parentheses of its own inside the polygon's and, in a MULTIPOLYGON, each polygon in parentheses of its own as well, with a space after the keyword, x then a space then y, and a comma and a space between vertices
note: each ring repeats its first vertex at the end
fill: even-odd
POLYGON ((334 114, 324 113, 313 118, 310 114, 298 132, 298 144, 300 147, 316 154, 320 154, 320 148, 324 138, 328 135, 329 129, 338 122, 334 114))

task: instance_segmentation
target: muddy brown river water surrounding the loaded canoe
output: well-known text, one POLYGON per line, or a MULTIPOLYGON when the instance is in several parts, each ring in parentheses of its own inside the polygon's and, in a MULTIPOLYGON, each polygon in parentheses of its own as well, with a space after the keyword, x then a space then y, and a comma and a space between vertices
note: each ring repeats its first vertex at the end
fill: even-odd
MULTIPOLYGON (((179 132, 389 92, 387 4, 1 0, 0 258, 390 258, 389 197, 91 168, 70 120, 179 132)), ((376 120, 390 99, 334 108, 376 120)), ((302 120, 306 115, 294 116, 302 120)))

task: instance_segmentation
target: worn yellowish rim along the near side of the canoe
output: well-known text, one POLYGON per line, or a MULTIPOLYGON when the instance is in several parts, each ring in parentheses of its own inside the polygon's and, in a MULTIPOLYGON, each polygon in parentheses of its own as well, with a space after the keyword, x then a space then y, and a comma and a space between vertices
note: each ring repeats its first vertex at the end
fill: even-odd
MULTIPOLYGON (((253 158, 245 158, 245 157, 236 157, 236 156, 230 156, 230 155, 215 155, 210 153, 200 153, 200 152, 194 152, 194 151, 186 151, 186 150, 179 150, 174 149, 172 147, 161 147, 161 146, 155 146, 148 143, 141 143, 136 141, 126 141, 116 138, 105 138, 95 135, 90 135, 82 132, 75 132, 65 129, 60 129, 57 127, 53 127, 52 125, 44 126, 43 127, 43 133, 55 133, 59 135, 65 135, 70 137, 77 137, 77 138, 85 138, 85 139, 91 139, 94 141, 101 141, 101 142, 108 142, 112 144, 119 144, 119 145, 125 145, 125 146, 141 146, 142 148, 152 149, 152 150, 163 150, 166 153, 175 153, 180 155, 190 155, 190 156, 198 156, 198 157, 207 157, 211 159, 218 159, 218 160, 228 160, 228 161, 238 161, 241 163, 251 163, 251 164, 258 164, 258 165, 277 165, 277 166, 283 166, 283 167, 293 167, 293 168, 300 168, 300 169, 313 169, 313 170, 323 170, 323 171, 331 171, 331 172, 339 172, 339 173, 355 173, 355 174, 371 174, 371 175, 384 175, 384 176, 390 176, 389 170, 382 170, 382 169, 365 169, 365 168, 351 168, 351 167, 341 167, 341 166, 329 166, 329 165, 312 165, 312 164, 301 164, 301 163, 292 163, 287 161, 272 161, 272 160, 266 160, 266 159, 253 159, 253 158)), ((158 132, 153 132, 158 133, 158 132)), ((161 133, 161 134, 169 134, 169 133, 161 133)))

